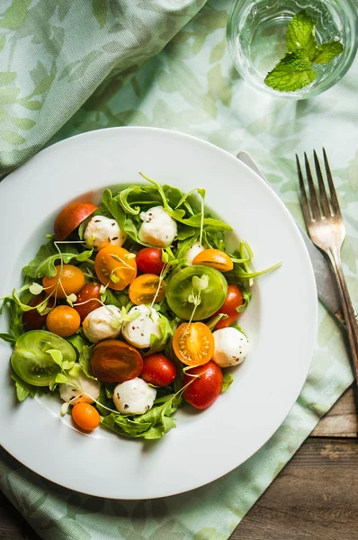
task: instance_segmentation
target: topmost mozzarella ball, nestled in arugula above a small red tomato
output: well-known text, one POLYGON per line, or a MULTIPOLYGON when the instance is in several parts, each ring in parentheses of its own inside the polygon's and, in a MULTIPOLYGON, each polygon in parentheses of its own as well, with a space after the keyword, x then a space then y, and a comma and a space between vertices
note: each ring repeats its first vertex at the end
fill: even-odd
POLYGON ((140 213, 143 221, 139 229, 139 239, 146 244, 157 247, 170 246, 178 229, 175 220, 161 206, 155 206, 140 213))

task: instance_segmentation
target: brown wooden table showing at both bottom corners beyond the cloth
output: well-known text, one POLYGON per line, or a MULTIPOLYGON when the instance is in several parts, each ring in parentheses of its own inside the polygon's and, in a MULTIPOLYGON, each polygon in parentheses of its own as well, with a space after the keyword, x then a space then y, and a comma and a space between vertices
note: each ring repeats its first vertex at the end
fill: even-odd
MULTIPOLYGON (((357 540, 358 423, 352 390, 246 515, 231 540, 357 540)), ((40 540, 0 495, 0 540, 40 540)))

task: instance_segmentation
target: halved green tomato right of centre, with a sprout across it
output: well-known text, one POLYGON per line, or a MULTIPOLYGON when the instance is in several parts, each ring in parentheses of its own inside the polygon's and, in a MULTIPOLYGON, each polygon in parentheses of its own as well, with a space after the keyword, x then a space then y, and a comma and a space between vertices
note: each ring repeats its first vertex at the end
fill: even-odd
POLYGON ((228 292, 228 283, 225 277, 210 266, 192 265, 183 268, 173 276, 166 286, 166 301, 175 315, 184 320, 192 316, 194 304, 189 302, 192 295, 192 277, 206 274, 209 284, 201 291, 201 302, 195 310, 192 320, 203 320, 219 310, 228 292))

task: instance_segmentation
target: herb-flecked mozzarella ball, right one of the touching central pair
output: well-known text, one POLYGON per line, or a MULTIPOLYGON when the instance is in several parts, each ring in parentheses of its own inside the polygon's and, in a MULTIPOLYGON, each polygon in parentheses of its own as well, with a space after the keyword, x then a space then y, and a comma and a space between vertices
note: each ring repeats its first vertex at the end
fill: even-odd
POLYGON ((150 336, 155 334, 157 338, 162 337, 159 326, 159 315, 154 308, 144 304, 139 304, 131 308, 128 312, 133 315, 139 312, 138 319, 125 322, 121 330, 123 338, 133 347, 139 349, 150 347, 150 336))

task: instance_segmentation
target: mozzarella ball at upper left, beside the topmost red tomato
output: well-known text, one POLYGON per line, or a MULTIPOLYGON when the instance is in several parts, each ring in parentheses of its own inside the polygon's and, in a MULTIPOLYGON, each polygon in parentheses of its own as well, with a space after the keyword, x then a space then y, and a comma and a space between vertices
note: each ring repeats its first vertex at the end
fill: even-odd
POLYGON ((110 245, 122 246, 126 238, 117 221, 105 216, 94 216, 85 228, 85 243, 97 249, 110 245))

